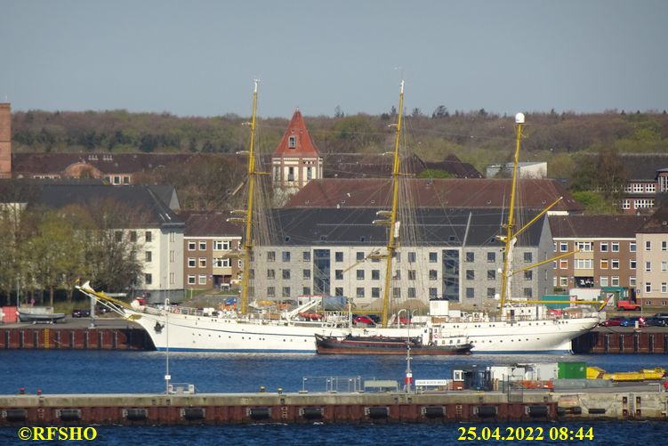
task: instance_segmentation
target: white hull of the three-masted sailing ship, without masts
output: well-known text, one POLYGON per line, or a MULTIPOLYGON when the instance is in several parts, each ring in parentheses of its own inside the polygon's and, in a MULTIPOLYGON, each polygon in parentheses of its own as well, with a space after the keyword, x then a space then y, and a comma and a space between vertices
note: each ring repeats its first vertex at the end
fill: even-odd
MULTIPOLYGON (((218 352, 315 353, 315 334, 342 337, 406 337, 428 328, 337 328, 319 323, 302 325, 278 321, 235 320, 170 313, 141 315, 136 320, 158 350, 218 352)), ((472 353, 567 353, 571 340, 596 327, 599 319, 532 320, 515 322, 453 322, 439 325, 440 337, 465 336, 472 353)))

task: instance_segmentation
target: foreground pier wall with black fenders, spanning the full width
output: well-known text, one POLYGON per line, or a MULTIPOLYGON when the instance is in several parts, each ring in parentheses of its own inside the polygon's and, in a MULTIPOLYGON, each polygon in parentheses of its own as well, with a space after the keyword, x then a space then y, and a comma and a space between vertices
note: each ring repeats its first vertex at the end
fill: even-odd
POLYGON ((668 420, 668 393, 0 395, 0 426, 668 420))

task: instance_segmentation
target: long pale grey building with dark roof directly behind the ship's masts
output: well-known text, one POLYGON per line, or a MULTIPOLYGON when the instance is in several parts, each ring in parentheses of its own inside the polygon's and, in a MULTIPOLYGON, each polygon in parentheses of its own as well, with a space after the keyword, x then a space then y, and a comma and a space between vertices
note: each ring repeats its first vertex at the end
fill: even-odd
MULTIPOLYGON (((355 304, 380 304, 386 229, 372 222, 379 208, 282 208, 272 213, 270 244, 254 249, 254 295, 350 297, 355 304)), ((414 209, 415 223, 402 221, 393 260, 394 299, 448 299, 471 309, 495 306, 500 293, 503 209, 414 209)), ((537 212, 528 212, 527 221, 537 212)), ((519 239, 515 258, 534 264, 551 256, 546 218, 519 239)), ((551 293, 551 265, 516 275, 515 296, 551 293)))

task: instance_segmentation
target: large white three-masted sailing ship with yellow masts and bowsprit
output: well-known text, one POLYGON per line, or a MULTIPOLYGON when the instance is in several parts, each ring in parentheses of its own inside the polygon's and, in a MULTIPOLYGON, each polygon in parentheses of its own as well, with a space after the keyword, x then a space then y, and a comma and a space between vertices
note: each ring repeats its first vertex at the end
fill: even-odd
MULTIPOLYGON (((300 320, 300 312, 308 312, 318 304, 317 300, 297 307, 291 312, 283 312, 276 317, 267 317, 248 311, 248 289, 251 253, 253 250, 253 190, 256 175, 254 166, 254 126, 257 103, 257 83, 254 87, 253 118, 250 123, 251 138, 248 150, 248 203, 244 211, 235 211, 237 218, 245 224, 243 252, 243 280, 239 312, 221 311, 207 313, 202 310, 172 306, 168 302, 161 308, 142 306, 136 301, 126 304, 101 291, 94 290, 85 283, 77 287, 85 295, 96 299, 110 310, 121 314, 128 320, 141 325, 151 337, 157 350, 170 351, 222 351, 222 352, 269 352, 269 353, 315 353, 315 335, 326 337, 385 336, 385 337, 423 337, 424 342, 440 344, 444 338, 467 337, 473 345, 472 353, 567 353, 571 349, 571 340, 596 327, 600 321, 599 313, 589 303, 578 303, 574 312, 564 312, 555 317, 547 311, 543 303, 516 301, 510 299, 512 248, 517 235, 526 229, 514 231, 512 210, 506 225, 505 235, 499 237, 505 243, 505 261, 503 266, 503 287, 501 296, 502 313, 498 320, 487 315, 470 316, 457 320, 448 319, 447 302, 432 301, 431 317, 421 323, 392 327, 388 326, 389 290, 391 261, 397 248, 395 237, 398 233, 398 144, 401 132, 404 84, 401 83, 399 96, 398 122, 395 127, 396 142, 393 166, 393 202, 390 211, 379 213, 377 223, 388 226, 386 252, 376 255, 386 260, 385 286, 382 300, 382 324, 378 327, 358 328, 345 314, 326 316, 323 320, 300 320)), ((516 117, 517 149, 511 193, 511 208, 517 182, 517 162, 524 116, 516 117)), ((556 204, 556 203, 555 203, 556 204)), ((553 205, 552 205, 553 206, 553 205)), ((547 209, 544 212, 546 212, 547 209)), ((543 215, 543 214, 541 214, 543 215)), ((540 215, 539 215, 540 216, 540 215)), ((535 219, 537 219, 536 217, 535 219)), ((534 219, 534 221, 535 221, 534 219)), ((532 221, 533 222, 533 221, 532 221)), ((530 223, 529 223, 530 224, 530 223)), ((551 262, 543 261, 541 264, 551 262)))

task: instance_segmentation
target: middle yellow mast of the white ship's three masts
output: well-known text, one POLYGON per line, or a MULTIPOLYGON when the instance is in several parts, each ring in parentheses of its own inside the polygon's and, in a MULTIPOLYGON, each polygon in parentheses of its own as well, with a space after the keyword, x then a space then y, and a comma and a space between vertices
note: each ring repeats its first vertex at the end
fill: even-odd
POLYGON ((395 125, 394 161, 392 164, 392 209, 390 212, 380 211, 379 215, 389 217, 388 220, 375 220, 376 224, 388 226, 387 253, 385 258, 385 287, 382 291, 382 327, 387 327, 388 308, 390 307, 390 280, 392 278, 392 257, 397 248, 395 227, 397 224, 398 177, 399 177, 399 138, 401 136, 401 113, 404 109, 404 81, 401 80, 397 124, 395 125))

